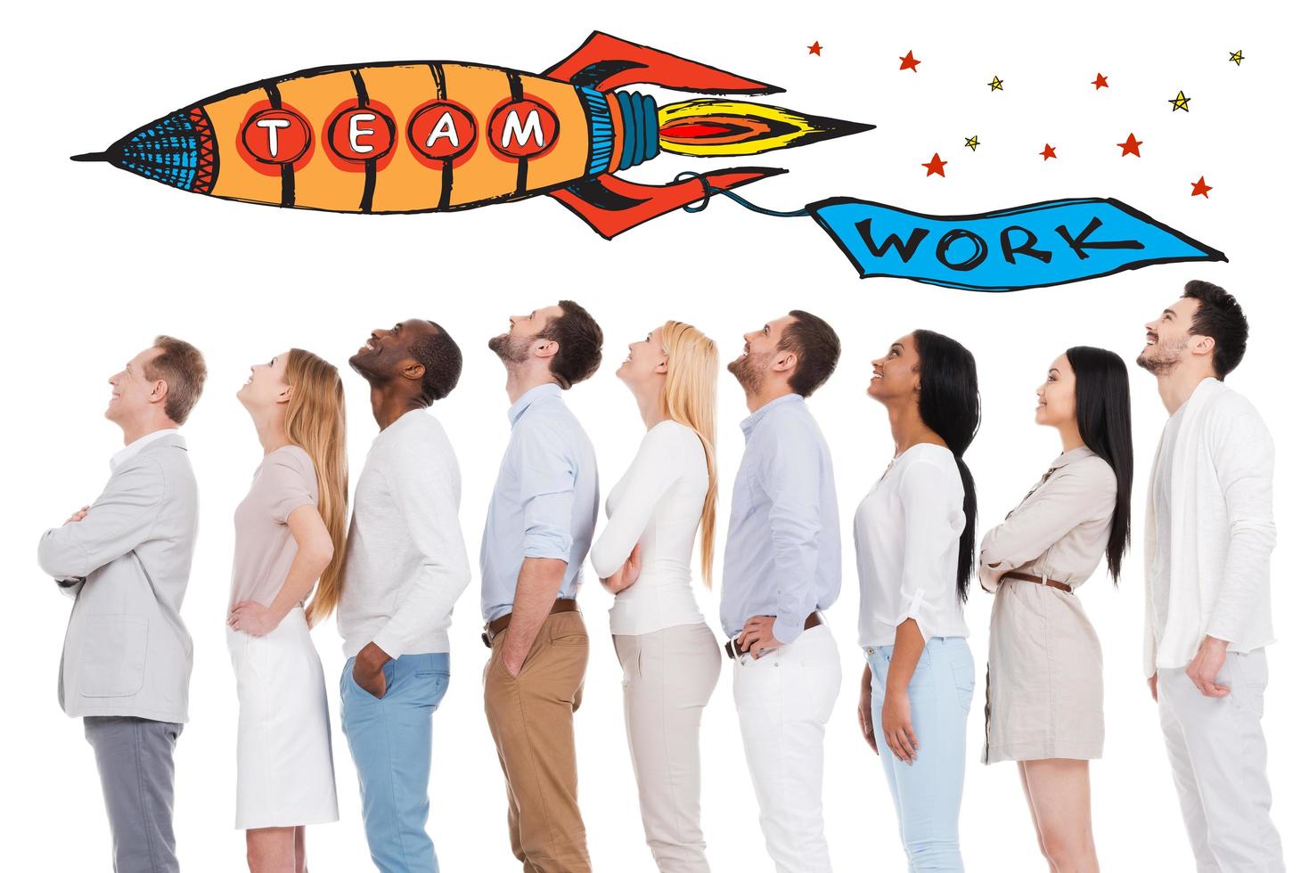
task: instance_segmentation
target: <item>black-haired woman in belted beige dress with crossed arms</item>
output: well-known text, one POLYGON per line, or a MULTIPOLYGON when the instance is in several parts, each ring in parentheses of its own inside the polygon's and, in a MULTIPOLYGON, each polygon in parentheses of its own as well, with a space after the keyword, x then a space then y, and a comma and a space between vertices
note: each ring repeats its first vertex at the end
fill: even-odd
POLYGON ((992 592, 983 763, 1018 762, 1041 852, 1059 873, 1098 870, 1090 771, 1105 743, 1100 640, 1073 593, 1106 558, 1114 582, 1130 538, 1127 366, 1080 346, 1037 389, 1037 424, 1063 453, 982 541, 992 592))

